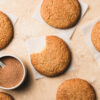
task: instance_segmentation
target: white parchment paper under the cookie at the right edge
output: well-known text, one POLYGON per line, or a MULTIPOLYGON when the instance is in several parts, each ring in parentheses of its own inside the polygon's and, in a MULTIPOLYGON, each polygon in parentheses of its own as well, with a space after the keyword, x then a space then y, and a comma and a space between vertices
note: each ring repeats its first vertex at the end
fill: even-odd
POLYGON ((96 61, 98 62, 98 64, 100 65, 100 52, 98 52, 96 50, 96 48, 94 47, 92 41, 91 41, 91 32, 92 32, 92 29, 94 27, 94 25, 100 21, 100 18, 97 18, 95 20, 92 20, 91 22, 89 23, 86 23, 84 24, 83 26, 81 26, 81 31, 85 37, 85 40, 89 46, 89 48, 91 49, 96 61))

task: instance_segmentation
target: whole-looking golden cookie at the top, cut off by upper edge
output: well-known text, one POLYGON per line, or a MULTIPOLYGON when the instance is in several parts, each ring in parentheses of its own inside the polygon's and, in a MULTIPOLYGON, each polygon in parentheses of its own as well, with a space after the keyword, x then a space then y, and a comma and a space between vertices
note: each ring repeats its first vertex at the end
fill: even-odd
POLYGON ((78 22, 81 6, 78 0, 43 0, 40 13, 47 24, 65 29, 78 22))

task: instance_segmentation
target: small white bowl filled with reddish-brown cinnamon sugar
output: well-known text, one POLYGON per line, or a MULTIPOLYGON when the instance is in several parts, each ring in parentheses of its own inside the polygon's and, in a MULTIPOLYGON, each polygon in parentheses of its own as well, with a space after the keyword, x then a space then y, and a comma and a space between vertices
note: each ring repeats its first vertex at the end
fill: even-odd
POLYGON ((0 67, 0 88, 15 89, 22 84, 25 79, 26 70, 22 61, 12 55, 0 57, 5 66, 0 67))

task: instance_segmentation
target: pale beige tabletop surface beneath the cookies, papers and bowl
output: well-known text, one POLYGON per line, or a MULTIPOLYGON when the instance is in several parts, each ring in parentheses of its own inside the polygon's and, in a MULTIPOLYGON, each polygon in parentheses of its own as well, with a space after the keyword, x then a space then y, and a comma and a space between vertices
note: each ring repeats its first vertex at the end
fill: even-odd
POLYGON ((94 0, 83 0, 89 5, 89 9, 71 39, 75 71, 68 71, 64 75, 56 78, 34 80, 24 45, 25 40, 31 36, 55 33, 46 25, 31 18, 31 15, 40 1, 41 0, 0 0, 0 9, 19 16, 15 25, 14 39, 10 45, 3 50, 3 53, 11 53, 20 57, 29 72, 23 86, 16 90, 6 92, 12 94, 16 100, 55 100, 57 88, 64 80, 79 77, 88 80, 94 86, 98 100, 100 100, 100 68, 97 66, 93 55, 84 41, 83 35, 81 35, 79 31, 80 25, 100 16, 100 0, 95 0, 95 2, 94 0))

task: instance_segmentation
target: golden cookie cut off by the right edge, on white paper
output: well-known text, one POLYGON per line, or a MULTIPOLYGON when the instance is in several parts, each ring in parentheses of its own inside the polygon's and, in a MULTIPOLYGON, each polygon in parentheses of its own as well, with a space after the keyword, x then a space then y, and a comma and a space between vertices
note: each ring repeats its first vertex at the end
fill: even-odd
POLYGON ((93 27, 91 40, 95 48, 100 52, 100 21, 93 27))

